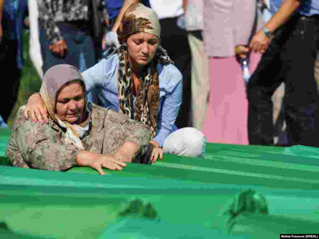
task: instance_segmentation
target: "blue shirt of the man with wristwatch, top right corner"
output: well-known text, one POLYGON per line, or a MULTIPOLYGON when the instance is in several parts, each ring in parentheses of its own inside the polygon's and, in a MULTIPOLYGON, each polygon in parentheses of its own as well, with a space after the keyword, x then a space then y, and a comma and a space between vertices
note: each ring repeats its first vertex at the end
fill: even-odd
MULTIPOLYGON (((283 2, 284 0, 270 0, 271 14, 275 14, 283 2)), ((306 16, 319 14, 319 0, 300 0, 298 11, 306 16)))

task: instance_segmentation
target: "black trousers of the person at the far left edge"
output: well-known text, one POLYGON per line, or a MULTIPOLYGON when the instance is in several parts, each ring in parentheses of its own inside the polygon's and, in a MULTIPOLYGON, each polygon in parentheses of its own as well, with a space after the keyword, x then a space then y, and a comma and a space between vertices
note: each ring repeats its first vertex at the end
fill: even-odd
POLYGON ((0 100, 2 102, 0 114, 5 122, 7 122, 11 110, 18 99, 20 69, 18 68, 17 53, 17 40, 3 38, 0 43, 0 70, 3 72, 3 82, 7 83, 3 84, 4 92, 0 94, 0 100))

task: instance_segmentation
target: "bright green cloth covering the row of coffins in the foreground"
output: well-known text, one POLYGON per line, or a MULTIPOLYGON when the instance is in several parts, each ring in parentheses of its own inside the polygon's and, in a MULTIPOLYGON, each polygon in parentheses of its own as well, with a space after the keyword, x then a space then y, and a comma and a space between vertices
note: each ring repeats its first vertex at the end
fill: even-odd
POLYGON ((5 166, 10 134, 0 133, 0 221, 14 235, 278 238, 319 230, 315 148, 207 144, 202 158, 164 155, 152 165, 128 163, 100 176, 85 167, 51 172, 5 166), (266 208, 266 202, 268 214, 242 210, 266 208), (237 212, 230 234, 221 213, 229 205, 237 212))

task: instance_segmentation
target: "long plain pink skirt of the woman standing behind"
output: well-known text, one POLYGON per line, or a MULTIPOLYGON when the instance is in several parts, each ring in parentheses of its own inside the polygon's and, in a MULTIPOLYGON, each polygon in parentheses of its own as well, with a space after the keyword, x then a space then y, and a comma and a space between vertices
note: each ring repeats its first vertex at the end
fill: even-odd
MULTIPOLYGON (((259 53, 251 53, 250 73, 256 69, 260 57, 259 53)), ((209 58, 209 89, 209 103, 202 128, 207 141, 249 144, 246 86, 235 56, 209 58)))

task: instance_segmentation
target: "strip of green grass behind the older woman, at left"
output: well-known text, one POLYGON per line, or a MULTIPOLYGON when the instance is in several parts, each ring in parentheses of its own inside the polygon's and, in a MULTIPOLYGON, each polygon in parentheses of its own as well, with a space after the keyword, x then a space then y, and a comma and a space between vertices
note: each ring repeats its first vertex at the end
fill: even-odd
POLYGON ((21 79, 20 87, 18 91, 18 99, 11 111, 10 117, 8 119, 8 126, 11 129, 14 122, 14 118, 20 108, 20 106, 25 105, 28 101, 30 95, 34 92, 39 92, 41 87, 41 78, 36 72, 36 69, 31 62, 29 55, 29 46, 30 46, 30 32, 23 31, 22 35, 22 45, 23 45, 23 67, 21 69, 21 79))

